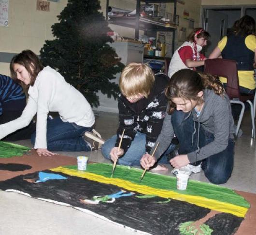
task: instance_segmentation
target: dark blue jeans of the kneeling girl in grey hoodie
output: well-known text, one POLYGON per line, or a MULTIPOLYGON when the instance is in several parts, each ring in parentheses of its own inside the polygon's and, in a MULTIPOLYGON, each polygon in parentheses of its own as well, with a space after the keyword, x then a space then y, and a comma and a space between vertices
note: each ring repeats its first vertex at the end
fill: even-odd
MULTIPOLYGON (((174 133, 180 143, 179 154, 187 154, 197 150, 198 122, 196 122, 196 133, 194 134, 193 145, 191 146, 194 132, 194 121, 192 114, 186 118, 187 116, 188 113, 184 113, 183 111, 175 111, 171 116, 174 133)), ((200 126, 199 147, 201 148, 213 142, 213 140, 213 134, 203 130, 200 126)), ((233 140, 228 140, 228 147, 225 150, 203 159, 201 163, 204 174, 211 183, 226 183, 231 176, 234 164, 233 140)), ((199 164, 199 162, 197 162, 197 164, 199 164)))

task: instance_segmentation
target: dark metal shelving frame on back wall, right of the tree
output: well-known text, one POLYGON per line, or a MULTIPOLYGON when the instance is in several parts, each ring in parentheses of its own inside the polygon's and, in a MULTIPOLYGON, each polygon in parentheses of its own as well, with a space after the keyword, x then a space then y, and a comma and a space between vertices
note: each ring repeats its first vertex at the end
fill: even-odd
POLYGON ((175 42, 175 31, 176 26, 166 26, 164 23, 154 21, 153 18, 141 17, 140 16, 140 6, 141 1, 145 3, 174 3, 173 9, 173 22, 175 22, 176 9, 177 9, 177 0, 136 0, 136 15, 128 17, 110 17, 108 16, 108 7, 109 0, 106 0, 106 19, 109 20, 110 24, 125 26, 135 29, 135 39, 139 39, 139 30, 144 31, 171 31, 172 32, 172 49, 171 52, 174 52, 174 42, 175 42))

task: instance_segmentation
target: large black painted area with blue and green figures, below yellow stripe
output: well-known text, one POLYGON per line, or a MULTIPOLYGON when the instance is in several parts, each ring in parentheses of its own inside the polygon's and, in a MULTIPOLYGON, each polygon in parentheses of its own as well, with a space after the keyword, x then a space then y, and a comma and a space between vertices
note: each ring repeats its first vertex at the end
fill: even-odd
MULTIPOLYGON (((58 173, 50 170, 44 172, 58 173)), ((85 205, 80 202, 80 199, 92 200, 93 196, 111 195, 119 192, 122 188, 60 174, 69 179, 49 180, 44 183, 28 183, 23 180, 25 178, 37 179, 38 172, 36 172, 2 181, 0 189, 12 188, 26 192, 33 197, 48 198, 88 209, 114 222, 152 235, 179 235, 180 223, 197 221, 210 212, 210 209, 173 199, 168 203, 159 204, 156 202, 167 199, 158 196, 142 199, 136 197, 140 195, 137 193, 133 196, 116 198, 114 203, 100 202, 97 205, 85 205)))

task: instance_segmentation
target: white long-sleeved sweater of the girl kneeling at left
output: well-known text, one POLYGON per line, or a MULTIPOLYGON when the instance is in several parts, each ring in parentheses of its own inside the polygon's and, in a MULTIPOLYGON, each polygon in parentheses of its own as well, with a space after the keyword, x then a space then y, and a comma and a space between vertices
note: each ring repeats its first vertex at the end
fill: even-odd
POLYGON ((64 122, 91 127, 95 117, 85 97, 54 69, 47 66, 28 89, 28 104, 20 118, 0 125, 0 139, 26 127, 37 113, 34 148, 47 148, 46 123, 49 112, 58 112, 64 122))

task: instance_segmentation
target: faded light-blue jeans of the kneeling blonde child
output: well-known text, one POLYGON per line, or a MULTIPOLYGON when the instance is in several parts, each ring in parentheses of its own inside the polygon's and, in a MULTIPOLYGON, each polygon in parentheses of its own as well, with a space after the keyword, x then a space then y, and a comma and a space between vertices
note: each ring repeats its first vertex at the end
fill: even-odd
MULTIPOLYGON (((117 135, 112 136, 108 139, 101 148, 101 153, 106 159, 111 159, 110 151, 114 148, 116 143, 117 135)), ((118 164, 126 166, 140 166, 140 159, 145 154, 145 145, 146 145, 146 134, 143 134, 137 131, 133 141, 131 142, 130 147, 124 156, 120 157, 118 164)), ((165 151, 163 156, 158 160, 158 163, 168 164, 167 155, 173 151, 176 145, 171 144, 169 148, 165 151)))

